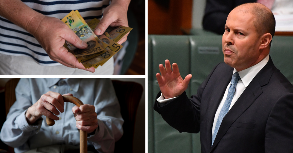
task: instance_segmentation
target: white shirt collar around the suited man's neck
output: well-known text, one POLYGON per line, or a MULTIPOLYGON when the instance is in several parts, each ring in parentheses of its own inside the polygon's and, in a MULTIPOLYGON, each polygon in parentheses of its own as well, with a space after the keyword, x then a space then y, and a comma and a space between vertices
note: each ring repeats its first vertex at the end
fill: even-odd
MULTIPOLYGON (((244 84, 245 87, 247 87, 252 79, 257 75, 257 73, 265 67, 266 63, 269 62, 269 55, 266 56, 262 61, 255 64, 254 66, 251 66, 247 69, 244 69, 242 71, 239 71, 239 76, 244 84)), ((233 74, 237 72, 237 70, 234 68, 233 74)))

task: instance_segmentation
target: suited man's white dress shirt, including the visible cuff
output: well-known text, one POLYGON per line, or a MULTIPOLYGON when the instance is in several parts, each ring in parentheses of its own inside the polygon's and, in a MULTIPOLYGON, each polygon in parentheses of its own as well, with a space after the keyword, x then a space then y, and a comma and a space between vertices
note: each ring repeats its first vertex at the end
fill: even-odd
MULTIPOLYGON (((266 65, 266 63, 268 61, 269 61, 269 55, 267 55, 265 59, 263 59, 261 62, 257 63, 256 65, 251 66, 251 67, 249 67, 247 69, 244 69, 244 70, 238 72, 239 76, 240 76, 240 79, 239 79, 239 81, 238 81, 238 83, 236 85, 234 97, 232 99, 232 102, 231 102, 229 110, 233 107, 233 105, 235 104, 237 99, 240 97, 240 95, 243 93, 243 91, 246 89, 246 87, 249 85, 251 80, 266 65)), ((234 68, 233 74, 235 72, 237 72, 237 71, 234 68)), ((232 76, 233 76, 233 74, 232 74, 232 76)), ((217 109, 217 112, 215 114, 213 128, 212 128, 212 137, 214 135, 215 126, 216 126, 220 111, 221 111, 221 109, 222 109, 222 107, 223 107, 223 105, 225 103, 226 98, 227 98, 228 89, 229 89, 230 85, 231 85, 231 81, 230 81, 230 83, 228 84, 228 86, 226 88, 226 91, 225 91, 225 94, 223 96, 223 99, 222 99, 222 101, 221 101, 221 103, 220 103, 220 105, 219 105, 219 107, 217 109)), ((177 98, 177 97, 174 97, 174 98, 177 98)), ((161 94, 161 96, 157 99, 157 101, 159 101, 159 103, 165 103, 165 102, 171 101, 174 98, 165 99, 163 94, 161 94)))

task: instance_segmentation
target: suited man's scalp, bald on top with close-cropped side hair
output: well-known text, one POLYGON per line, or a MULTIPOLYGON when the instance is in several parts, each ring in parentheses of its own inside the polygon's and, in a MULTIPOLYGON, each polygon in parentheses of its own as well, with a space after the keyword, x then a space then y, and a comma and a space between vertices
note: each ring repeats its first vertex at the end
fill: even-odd
POLYGON ((263 34, 270 33, 272 37, 274 36, 276 20, 272 11, 265 5, 259 3, 246 3, 237 6, 232 11, 251 13, 255 16, 253 23, 258 35, 262 36, 263 34))

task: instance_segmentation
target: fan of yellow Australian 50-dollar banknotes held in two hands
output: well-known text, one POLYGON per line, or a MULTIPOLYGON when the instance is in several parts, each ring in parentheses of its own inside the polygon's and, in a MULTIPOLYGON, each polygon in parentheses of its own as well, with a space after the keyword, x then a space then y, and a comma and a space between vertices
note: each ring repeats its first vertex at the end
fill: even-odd
POLYGON ((87 69, 103 66, 112 56, 114 56, 123 46, 117 42, 127 34, 132 28, 118 26, 108 27, 101 36, 93 33, 100 20, 93 19, 90 22, 81 17, 78 10, 71 11, 62 21, 75 32, 75 34, 87 44, 87 48, 79 49, 65 41, 64 47, 71 52, 79 62, 87 69))

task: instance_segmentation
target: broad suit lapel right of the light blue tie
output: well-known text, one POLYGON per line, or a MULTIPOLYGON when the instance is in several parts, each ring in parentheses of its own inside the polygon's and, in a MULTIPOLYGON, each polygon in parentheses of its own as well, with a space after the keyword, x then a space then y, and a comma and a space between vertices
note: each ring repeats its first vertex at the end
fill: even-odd
MULTIPOLYGON (((276 67, 273 64, 271 57, 269 56, 269 62, 263 69, 253 78, 251 83, 243 91, 241 96, 235 102, 233 107, 229 110, 226 116, 223 118, 221 126, 218 130, 214 144, 209 152, 211 152, 218 142, 225 135, 232 123, 262 94, 262 86, 268 84, 270 77, 275 71, 276 67)), ((227 86, 226 86, 227 87, 227 86)), ((221 98, 222 99, 222 98, 221 98)), ((216 109, 218 106, 216 107, 216 109)), ((213 113, 215 115, 215 112, 213 113)))

